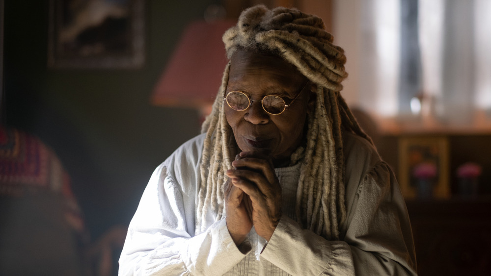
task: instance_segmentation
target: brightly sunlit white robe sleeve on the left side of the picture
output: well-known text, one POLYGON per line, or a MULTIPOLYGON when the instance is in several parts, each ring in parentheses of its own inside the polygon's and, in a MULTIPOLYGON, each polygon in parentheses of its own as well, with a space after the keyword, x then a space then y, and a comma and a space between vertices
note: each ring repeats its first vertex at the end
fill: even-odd
POLYGON ((194 235, 194 198, 187 193, 165 164, 157 168, 129 225, 119 275, 222 275, 246 256, 224 219, 194 235))

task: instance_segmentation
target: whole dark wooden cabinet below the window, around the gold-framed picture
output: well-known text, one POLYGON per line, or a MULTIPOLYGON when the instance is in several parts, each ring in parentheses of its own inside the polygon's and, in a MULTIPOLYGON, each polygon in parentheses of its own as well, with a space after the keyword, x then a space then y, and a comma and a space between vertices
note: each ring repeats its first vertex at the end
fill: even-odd
MULTIPOLYGON (((448 141, 449 199, 406 200, 420 276, 491 275, 491 134, 431 131, 384 134, 376 146, 399 178, 399 146, 405 137, 444 137, 448 141), (465 162, 482 166, 479 192, 463 197, 457 168, 465 162)), ((400 179, 399 179, 400 180, 400 179)))

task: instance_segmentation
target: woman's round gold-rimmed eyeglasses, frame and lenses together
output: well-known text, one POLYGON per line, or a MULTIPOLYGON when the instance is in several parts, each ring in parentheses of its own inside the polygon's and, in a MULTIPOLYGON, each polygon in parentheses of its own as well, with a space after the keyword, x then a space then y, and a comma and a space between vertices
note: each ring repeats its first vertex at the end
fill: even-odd
POLYGON ((295 96, 295 98, 289 103, 286 104, 283 98, 277 95, 267 95, 264 96, 262 100, 251 100, 246 93, 242 91, 230 91, 223 100, 227 101, 228 106, 233 110, 244 111, 252 104, 253 101, 261 101, 261 105, 263 106, 264 111, 271 115, 279 115, 285 111, 285 109, 292 105, 292 103, 299 98, 303 89, 307 86, 308 81, 303 85, 300 89, 300 92, 295 96))

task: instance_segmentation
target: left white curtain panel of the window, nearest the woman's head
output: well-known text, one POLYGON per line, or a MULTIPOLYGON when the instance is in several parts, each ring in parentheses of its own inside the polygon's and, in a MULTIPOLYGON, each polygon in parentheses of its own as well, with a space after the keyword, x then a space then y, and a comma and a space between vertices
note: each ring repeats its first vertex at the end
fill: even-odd
POLYGON ((392 117, 398 113, 400 4, 397 0, 358 1, 361 1, 358 105, 370 113, 392 117))

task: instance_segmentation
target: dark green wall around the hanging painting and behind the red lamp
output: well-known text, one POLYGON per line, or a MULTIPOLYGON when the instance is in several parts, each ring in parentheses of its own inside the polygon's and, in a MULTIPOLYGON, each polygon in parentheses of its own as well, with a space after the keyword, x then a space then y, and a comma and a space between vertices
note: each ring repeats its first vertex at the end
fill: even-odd
POLYGON ((5 0, 5 123, 58 154, 94 238, 127 225, 154 168, 199 133, 196 111, 152 106, 149 99, 185 25, 216 2, 146 1, 141 69, 53 70, 49 1, 5 0))

